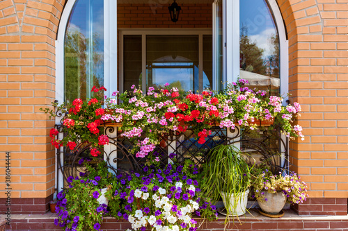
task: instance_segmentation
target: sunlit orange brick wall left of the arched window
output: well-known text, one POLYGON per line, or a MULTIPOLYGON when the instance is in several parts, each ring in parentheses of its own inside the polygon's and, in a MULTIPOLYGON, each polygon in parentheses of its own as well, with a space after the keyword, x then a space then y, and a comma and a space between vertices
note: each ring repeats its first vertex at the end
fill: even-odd
POLYGON ((54 193, 54 151, 48 137, 54 121, 39 108, 55 98, 54 44, 64 3, 0 1, 0 191, 5 188, 2 160, 10 152, 10 196, 22 198, 14 201, 18 205, 25 198, 54 193))

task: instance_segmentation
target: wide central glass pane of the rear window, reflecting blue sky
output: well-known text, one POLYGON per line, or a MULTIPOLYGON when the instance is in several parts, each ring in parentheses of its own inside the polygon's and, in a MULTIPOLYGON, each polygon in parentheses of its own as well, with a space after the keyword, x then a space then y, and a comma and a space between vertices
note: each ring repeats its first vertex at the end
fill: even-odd
POLYGON ((146 36, 146 87, 198 90, 198 35, 146 36))

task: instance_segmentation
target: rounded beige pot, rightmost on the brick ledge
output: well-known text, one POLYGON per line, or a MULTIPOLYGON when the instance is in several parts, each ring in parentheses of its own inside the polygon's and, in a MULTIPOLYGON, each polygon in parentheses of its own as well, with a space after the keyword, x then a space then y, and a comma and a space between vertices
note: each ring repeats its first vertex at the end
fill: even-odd
POLYGON ((263 212, 267 214, 279 214, 286 203, 286 196, 282 191, 277 191, 271 194, 267 191, 264 192, 264 200, 258 199, 258 204, 263 212))

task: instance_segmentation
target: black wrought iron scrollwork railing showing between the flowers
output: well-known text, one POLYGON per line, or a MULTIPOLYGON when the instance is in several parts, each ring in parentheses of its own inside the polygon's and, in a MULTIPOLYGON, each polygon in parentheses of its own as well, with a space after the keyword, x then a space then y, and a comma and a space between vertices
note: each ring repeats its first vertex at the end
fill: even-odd
MULTIPOLYGON (((61 133, 58 136, 64 136, 63 126, 56 125, 56 129, 61 133)), ((127 171, 141 171, 145 158, 137 158, 131 153, 132 144, 126 137, 119 132, 120 128, 113 125, 105 125, 104 134, 109 137, 110 143, 104 146, 104 160, 107 163, 109 171, 117 174, 127 171)), ((267 127, 258 127, 241 129, 236 126, 235 129, 212 127, 212 135, 209 135, 204 144, 198 144, 192 130, 187 130, 180 134, 168 132, 159 137, 159 145, 155 148, 153 155, 159 157, 161 164, 168 163, 169 154, 174 153, 177 161, 193 160, 198 166, 202 166, 209 158, 209 151, 218 144, 233 144, 237 146, 245 155, 250 158, 250 162, 267 162, 272 171, 277 172, 280 169, 287 169, 288 166, 288 141, 280 130, 269 130, 267 127)), ((90 146, 88 144, 80 145, 72 152, 68 148, 57 149, 57 178, 58 189, 66 186, 64 182, 69 176, 78 176, 84 168, 79 164, 83 157, 90 157, 90 146), (60 173, 60 174, 59 174, 60 173), (61 179, 63 178, 63 179, 61 179), (62 185, 63 182, 63 185, 62 185)))

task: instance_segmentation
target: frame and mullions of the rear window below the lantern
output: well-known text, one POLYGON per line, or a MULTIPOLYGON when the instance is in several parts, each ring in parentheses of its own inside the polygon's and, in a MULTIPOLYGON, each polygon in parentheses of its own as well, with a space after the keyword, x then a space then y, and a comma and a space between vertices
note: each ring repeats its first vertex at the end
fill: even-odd
MULTIPOLYGON (((120 28, 119 29, 119 87, 120 92, 124 91, 124 72, 123 72, 123 36, 124 35, 141 35, 141 59, 142 73, 146 77, 146 35, 198 35, 198 74, 202 76, 199 80, 203 80, 203 35, 212 35, 211 28, 120 28)), ((146 78, 142 78, 142 90, 146 92, 146 78)), ((200 92, 203 91, 203 84, 200 85, 200 92)))

